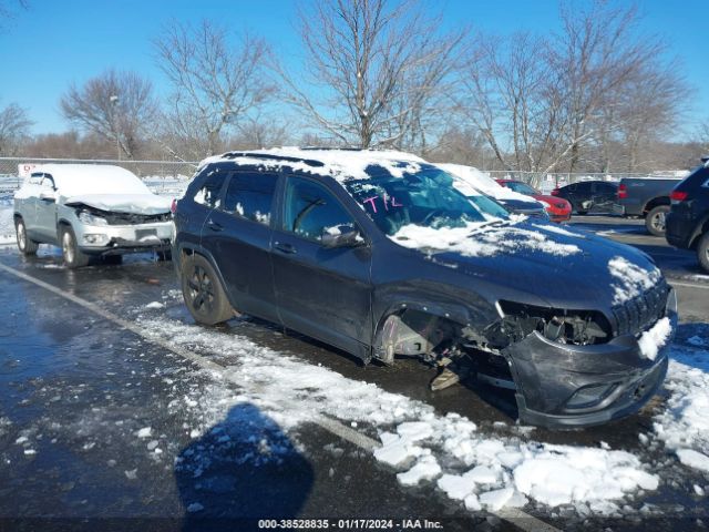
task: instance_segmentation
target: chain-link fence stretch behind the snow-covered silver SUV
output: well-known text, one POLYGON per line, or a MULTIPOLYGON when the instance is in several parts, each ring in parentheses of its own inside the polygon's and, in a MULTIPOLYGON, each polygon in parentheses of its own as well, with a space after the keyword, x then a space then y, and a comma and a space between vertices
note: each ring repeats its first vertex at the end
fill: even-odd
POLYGON ((111 161, 79 158, 0 157, 0 197, 14 194, 25 175, 43 164, 113 164, 130 170, 157 194, 178 195, 197 170, 198 162, 111 161))

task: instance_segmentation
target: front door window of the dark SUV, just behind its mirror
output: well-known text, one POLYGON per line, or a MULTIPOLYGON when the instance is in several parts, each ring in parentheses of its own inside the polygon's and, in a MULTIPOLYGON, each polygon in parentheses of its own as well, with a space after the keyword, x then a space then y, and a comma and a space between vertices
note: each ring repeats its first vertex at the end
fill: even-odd
POLYGON ((354 221, 323 186, 291 177, 286 190, 284 231, 310 241, 321 241, 326 233, 354 227, 354 221))

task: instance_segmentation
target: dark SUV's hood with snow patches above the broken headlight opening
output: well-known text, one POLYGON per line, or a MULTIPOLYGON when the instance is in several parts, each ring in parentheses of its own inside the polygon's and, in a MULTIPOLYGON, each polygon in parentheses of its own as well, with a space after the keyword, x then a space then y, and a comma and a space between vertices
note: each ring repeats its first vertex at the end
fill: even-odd
POLYGON ((555 308, 609 313, 661 279, 645 253, 588 232, 521 223, 467 238, 485 247, 477 254, 466 253, 465 246, 429 253, 434 262, 486 285, 494 298, 500 291, 520 293, 555 308))

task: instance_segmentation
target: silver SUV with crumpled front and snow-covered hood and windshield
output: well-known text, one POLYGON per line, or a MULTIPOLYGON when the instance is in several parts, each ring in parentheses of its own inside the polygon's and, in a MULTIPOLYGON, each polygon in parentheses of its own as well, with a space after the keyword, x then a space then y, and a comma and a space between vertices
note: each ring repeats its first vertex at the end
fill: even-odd
POLYGON ((58 245, 69 268, 92 256, 155 250, 169 256, 171 198, 153 194, 132 172, 99 164, 45 164, 14 195, 14 227, 23 255, 58 245))

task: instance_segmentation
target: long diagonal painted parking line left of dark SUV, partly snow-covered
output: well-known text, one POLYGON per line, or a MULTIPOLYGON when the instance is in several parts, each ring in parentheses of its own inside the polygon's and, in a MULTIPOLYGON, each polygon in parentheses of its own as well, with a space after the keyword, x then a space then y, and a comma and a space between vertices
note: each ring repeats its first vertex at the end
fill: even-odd
MULTIPOLYGON (((99 316, 101 316, 102 318, 114 323, 115 325, 117 325, 119 327, 125 329, 125 330, 130 330, 131 332, 140 336, 141 338, 145 339, 146 341, 157 345, 171 352, 173 352, 174 355, 177 355, 179 357, 183 357, 194 364, 196 364, 197 366, 204 368, 204 369, 208 369, 210 371, 216 371, 218 372, 223 378, 225 378, 226 380, 237 385, 238 387, 243 386, 243 382, 234 379, 228 371, 226 371, 226 368, 219 364, 216 364, 201 355, 197 355, 195 352, 192 352, 187 349, 183 349, 179 346, 175 346, 172 345, 161 338, 154 338, 148 331, 147 329, 145 329, 144 327, 141 327, 140 325, 129 321, 126 319, 121 318, 120 316, 116 316, 115 314, 111 313, 110 310, 106 310, 104 308, 101 308, 99 305, 96 305, 95 303, 91 303, 82 297, 79 297, 74 294, 71 294, 69 291, 62 290, 61 288, 58 288, 53 285, 50 285, 49 283, 45 283, 41 279, 38 279, 37 277, 32 277, 31 275, 27 275, 22 272, 19 272, 14 268, 11 268, 2 263, 0 263, 0 270, 6 272, 7 274, 13 275, 14 277, 18 277, 22 280, 25 280, 28 283, 32 283, 33 285, 37 285, 41 288, 44 288, 45 290, 51 291, 52 294, 55 294, 60 297, 63 297, 64 299, 69 299, 70 301, 85 308, 86 310, 90 310, 99 316)), ((362 434, 361 432, 352 429, 351 427, 348 427, 339 421, 337 421, 336 419, 332 418, 328 418, 328 417, 320 417, 320 418, 316 418, 312 420, 312 422, 315 424, 317 424, 318 427, 325 429, 326 431, 330 432, 331 434, 336 436, 337 438, 340 438, 341 440, 346 440, 357 447, 359 447, 360 449, 369 452, 370 454, 373 453, 374 450, 377 450, 380 447, 380 443, 371 438, 369 438, 366 434, 362 434)), ((490 511, 489 513, 496 515, 497 518, 505 520, 510 523, 512 523, 513 525, 517 526, 518 529, 523 530, 524 532, 561 532, 559 529, 553 526, 552 524, 548 524, 537 518, 535 518, 534 515, 531 515, 526 512, 524 512, 523 510, 520 509, 511 509, 511 508, 503 508, 499 511, 490 511)))

